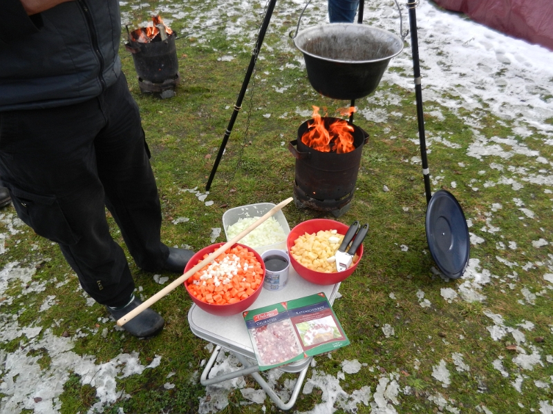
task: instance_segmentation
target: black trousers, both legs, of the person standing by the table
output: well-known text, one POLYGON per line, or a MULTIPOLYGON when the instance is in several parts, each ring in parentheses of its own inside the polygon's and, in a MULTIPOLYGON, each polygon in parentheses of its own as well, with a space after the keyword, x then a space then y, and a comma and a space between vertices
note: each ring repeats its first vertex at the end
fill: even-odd
POLYGON ((138 106, 124 75, 73 106, 0 112, 0 177, 19 217, 57 242, 86 292, 121 306, 134 290, 115 218, 135 263, 157 271, 161 209, 138 106))

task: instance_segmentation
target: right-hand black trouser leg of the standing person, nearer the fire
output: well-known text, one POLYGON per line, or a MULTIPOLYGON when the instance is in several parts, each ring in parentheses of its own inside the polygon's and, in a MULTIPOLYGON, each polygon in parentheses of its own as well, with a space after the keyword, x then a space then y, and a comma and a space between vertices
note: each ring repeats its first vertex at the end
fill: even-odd
POLYGON ((169 248, 160 241, 161 207, 140 112, 124 75, 100 97, 106 126, 95 139, 98 176, 106 206, 121 229, 135 263, 162 269, 169 248))

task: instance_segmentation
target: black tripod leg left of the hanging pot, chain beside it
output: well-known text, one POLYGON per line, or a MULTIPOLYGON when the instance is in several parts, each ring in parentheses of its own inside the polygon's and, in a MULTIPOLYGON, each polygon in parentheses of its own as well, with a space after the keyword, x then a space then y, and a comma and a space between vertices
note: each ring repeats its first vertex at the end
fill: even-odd
POLYGON ((225 146, 227 146, 227 141, 229 140, 230 133, 232 132, 232 127, 234 126, 234 121, 236 121, 236 117, 238 116, 238 112, 242 108, 242 101, 244 99, 244 96, 246 94, 247 90, 247 84, 250 83, 250 78, 252 77, 252 73, 254 72, 255 64, 257 61, 257 57, 259 56, 259 50, 261 50, 261 45, 263 45, 263 39, 265 38, 265 32, 267 32, 267 28, 269 26, 269 21, 271 20, 272 12, 274 10, 274 6, 277 3, 277 0, 270 0, 269 5, 267 8, 267 13, 265 13, 265 18, 263 19, 263 23, 261 23, 261 29, 259 29, 259 36, 257 37, 257 43, 254 48, 254 51, 252 52, 252 59, 250 59, 250 66, 247 67, 246 75, 244 78, 244 81, 242 83, 242 88, 240 90, 240 93, 238 94, 238 99, 236 99, 236 105, 234 105, 234 110, 232 111, 232 115, 229 119, 229 124, 227 126, 227 130, 225 131, 225 135, 223 136, 223 142, 221 142, 221 146, 219 147, 219 152, 217 153, 217 157, 215 159, 215 163, 212 168, 212 172, 209 175, 209 179, 207 180, 207 184, 205 185, 205 190, 209 190, 212 186, 212 181, 215 177, 215 172, 217 171, 217 167, 219 166, 219 162, 221 162, 221 157, 223 157, 223 153, 225 152, 225 146))

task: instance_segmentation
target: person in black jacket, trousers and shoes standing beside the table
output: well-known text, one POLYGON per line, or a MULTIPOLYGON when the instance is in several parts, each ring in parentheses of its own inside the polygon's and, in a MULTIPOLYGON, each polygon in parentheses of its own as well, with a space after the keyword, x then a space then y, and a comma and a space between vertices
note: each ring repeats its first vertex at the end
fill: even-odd
MULTIPOLYGON (((160 240, 161 208, 140 112, 117 54, 118 0, 2 0, 0 177, 19 217, 57 242, 115 319, 140 305, 105 208, 143 270, 182 274, 194 254, 160 240)), ((146 309, 124 324, 160 333, 146 309)))

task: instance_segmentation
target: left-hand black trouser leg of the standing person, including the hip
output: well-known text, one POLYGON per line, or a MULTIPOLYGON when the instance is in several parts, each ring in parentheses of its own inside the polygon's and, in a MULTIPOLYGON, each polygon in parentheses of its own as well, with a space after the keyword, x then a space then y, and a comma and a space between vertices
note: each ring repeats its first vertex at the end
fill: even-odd
POLYGON ((94 141, 105 125, 98 99, 0 112, 0 177, 19 217, 59 244, 84 290, 100 304, 120 306, 134 283, 109 233, 97 173, 94 141))

